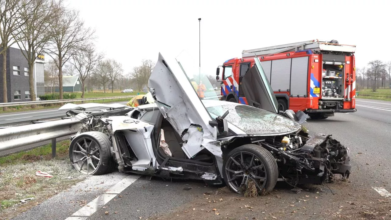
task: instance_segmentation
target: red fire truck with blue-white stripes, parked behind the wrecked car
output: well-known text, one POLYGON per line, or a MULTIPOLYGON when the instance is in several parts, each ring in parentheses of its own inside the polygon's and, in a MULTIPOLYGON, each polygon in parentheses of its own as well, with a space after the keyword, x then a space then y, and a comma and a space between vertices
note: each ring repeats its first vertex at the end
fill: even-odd
MULTIPOLYGON (((243 50, 222 66, 222 100, 248 105, 241 90, 242 78, 262 64, 280 111, 301 110, 312 119, 325 119, 335 112, 355 112, 355 46, 338 41, 303 41, 253 50, 243 50)), ((217 70, 219 79, 219 70, 217 70)))

